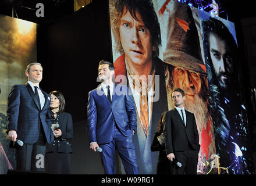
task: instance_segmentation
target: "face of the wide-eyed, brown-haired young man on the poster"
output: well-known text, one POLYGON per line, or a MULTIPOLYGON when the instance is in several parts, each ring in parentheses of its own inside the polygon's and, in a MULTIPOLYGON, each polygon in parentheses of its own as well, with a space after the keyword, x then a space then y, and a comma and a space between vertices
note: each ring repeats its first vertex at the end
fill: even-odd
POLYGON ((131 16, 126 7, 120 19, 119 32, 122 48, 125 51, 126 62, 134 65, 144 65, 152 62, 152 52, 155 47, 151 42, 151 33, 145 27, 143 20, 136 12, 137 20, 131 16))

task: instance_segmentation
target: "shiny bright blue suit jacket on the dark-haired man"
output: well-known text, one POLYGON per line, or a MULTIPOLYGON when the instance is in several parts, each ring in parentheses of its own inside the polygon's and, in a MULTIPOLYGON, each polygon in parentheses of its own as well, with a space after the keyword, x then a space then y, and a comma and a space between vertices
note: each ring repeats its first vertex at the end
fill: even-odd
POLYGON ((114 86, 112 103, 108 101, 101 85, 89 92, 87 104, 89 142, 108 144, 113 140, 113 124, 126 137, 137 129, 136 109, 129 89, 125 85, 114 86))

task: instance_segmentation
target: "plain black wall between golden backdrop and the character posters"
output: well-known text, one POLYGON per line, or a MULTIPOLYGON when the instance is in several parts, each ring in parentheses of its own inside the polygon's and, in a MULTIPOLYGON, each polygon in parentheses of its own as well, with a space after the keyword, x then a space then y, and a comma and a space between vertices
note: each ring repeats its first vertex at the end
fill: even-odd
POLYGON ((99 153, 91 151, 86 131, 88 92, 97 87, 98 62, 111 61, 107 2, 95 2, 50 27, 39 26, 38 62, 43 90, 61 91, 74 125, 72 174, 103 174, 99 153))

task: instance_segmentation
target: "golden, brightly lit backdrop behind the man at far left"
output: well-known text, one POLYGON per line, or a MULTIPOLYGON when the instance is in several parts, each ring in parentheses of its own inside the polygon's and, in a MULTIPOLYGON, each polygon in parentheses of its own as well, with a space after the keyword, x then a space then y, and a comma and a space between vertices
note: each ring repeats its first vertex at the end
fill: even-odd
POLYGON ((35 23, 0 15, 0 174, 15 169, 15 150, 6 135, 7 99, 14 84, 26 82, 25 69, 37 61, 35 23))

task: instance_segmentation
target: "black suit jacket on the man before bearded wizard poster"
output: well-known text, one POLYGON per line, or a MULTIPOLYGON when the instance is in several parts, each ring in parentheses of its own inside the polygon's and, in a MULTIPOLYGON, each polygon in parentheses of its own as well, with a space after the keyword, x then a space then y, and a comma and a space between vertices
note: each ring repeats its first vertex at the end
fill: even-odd
POLYGON ((163 135, 165 137, 166 154, 185 151, 189 143, 194 150, 200 150, 199 135, 195 116, 185 110, 186 127, 179 112, 174 108, 165 117, 163 135))

